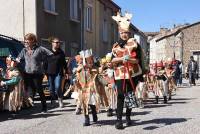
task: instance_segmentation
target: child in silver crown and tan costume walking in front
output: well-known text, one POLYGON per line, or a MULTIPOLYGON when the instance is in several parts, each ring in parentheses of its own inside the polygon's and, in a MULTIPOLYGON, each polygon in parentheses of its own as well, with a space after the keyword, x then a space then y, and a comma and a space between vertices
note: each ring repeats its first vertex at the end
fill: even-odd
POLYGON ((94 61, 91 49, 81 51, 80 56, 83 60, 83 64, 80 64, 77 68, 77 80, 81 87, 80 99, 83 103, 83 112, 85 116, 85 122, 83 123, 83 126, 89 126, 89 106, 92 110, 93 122, 97 122, 98 120, 96 108, 98 99, 94 82, 94 79, 97 74, 97 69, 94 68, 94 61))

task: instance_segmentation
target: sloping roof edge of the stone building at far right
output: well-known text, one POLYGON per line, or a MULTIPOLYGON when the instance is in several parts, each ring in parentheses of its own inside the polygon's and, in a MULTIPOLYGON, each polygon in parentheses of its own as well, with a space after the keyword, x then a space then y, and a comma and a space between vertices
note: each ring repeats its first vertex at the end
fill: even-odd
POLYGON ((186 29, 186 28, 190 28, 192 26, 195 26, 195 25, 198 25, 200 24, 200 21, 199 22, 196 22, 196 23, 193 23, 191 25, 182 25, 182 26, 179 26, 177 28, 174 28, 172 29, 171 31, 167 32, 166 34, 164 35, 159 35, 159 37, 157 37, 156 39, 156 42, 160 41, 160 40, 163 40, 167 37, 170 37, 172 35, 177 35, 178 33, 180 33, 182 30, 186 29))

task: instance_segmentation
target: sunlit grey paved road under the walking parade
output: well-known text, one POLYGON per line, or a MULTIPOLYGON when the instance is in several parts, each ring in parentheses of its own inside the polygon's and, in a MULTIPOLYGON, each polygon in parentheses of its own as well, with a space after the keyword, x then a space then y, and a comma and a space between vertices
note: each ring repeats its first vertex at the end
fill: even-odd
POLYGON ((39 104, 18 115, 0 113, 0 134, 200 134, 200 84, 179 88, 168 104, 153 101, 134 109, 133 126, 124 130, 116 130, 116 117, 106 113, 98 114, 97 124, 83 127, 83 116, 74 114, 73 100, 65 100, 64 109, 50 109, 46 114, 39 113, 39 104))

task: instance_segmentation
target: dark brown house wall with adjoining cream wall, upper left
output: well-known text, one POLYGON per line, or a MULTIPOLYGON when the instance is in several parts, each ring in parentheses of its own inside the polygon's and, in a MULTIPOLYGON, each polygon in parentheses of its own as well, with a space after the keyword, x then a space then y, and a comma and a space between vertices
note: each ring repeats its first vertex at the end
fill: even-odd
POLYGON ((45 47, 56 36, 68 56, 83 47, 83 0, 2 0, 0 5, 0 34, 23 40, 34 33, 45 47))

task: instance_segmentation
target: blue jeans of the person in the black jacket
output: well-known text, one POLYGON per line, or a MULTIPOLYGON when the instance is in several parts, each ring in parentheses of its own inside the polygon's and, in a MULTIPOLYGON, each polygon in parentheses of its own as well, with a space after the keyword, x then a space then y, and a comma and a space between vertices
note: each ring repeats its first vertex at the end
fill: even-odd
POLYGON ((56 99, 56 95, 58 98, 63 98, 63 93, 61 89, 62 78, 63 77, 60 74, 48 75, 49 89, 52 100, 56 99))

